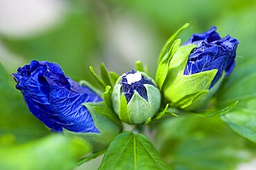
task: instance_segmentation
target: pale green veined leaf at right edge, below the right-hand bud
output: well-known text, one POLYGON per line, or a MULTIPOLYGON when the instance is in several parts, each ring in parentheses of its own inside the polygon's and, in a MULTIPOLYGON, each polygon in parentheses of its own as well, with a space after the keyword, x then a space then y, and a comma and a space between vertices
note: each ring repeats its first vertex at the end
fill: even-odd
POLYGON ((256 99, 243 101, 221 119, 237 134, 256 143, 256 99))

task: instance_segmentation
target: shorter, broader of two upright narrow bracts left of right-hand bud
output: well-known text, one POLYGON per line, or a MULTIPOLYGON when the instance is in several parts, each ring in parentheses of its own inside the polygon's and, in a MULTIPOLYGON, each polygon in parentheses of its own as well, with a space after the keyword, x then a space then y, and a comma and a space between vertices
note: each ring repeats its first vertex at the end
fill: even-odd
POLYGON ((176 39, 176 41, 174 41, 174 43, 170 47, 170 50, 165 56, 163 56, 161 62, 158 63, 158 68, 156 70, 156 84, 158 85, 160 90, 162 89, 163 83, 165 82, 172 56, 178 50, 180 44, 181 39, 176 39))

